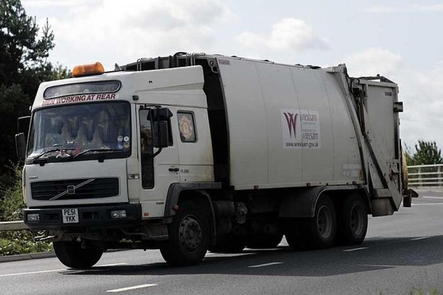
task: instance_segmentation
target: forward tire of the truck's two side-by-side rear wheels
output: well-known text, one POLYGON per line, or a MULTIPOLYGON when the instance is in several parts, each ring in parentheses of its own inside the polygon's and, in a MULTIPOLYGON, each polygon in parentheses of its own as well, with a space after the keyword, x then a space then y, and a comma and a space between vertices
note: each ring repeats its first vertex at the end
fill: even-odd
POLYGON ((294 250, 325 249, 332 246, 337 231, 334 204, 328 196, 320 196, 315 215, 296 218, 286 223, 285 236, 294 250))

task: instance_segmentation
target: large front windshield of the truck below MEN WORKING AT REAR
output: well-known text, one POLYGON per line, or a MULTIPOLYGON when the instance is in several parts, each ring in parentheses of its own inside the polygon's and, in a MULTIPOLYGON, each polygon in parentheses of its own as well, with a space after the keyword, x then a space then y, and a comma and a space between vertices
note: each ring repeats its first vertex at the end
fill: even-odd
POLYGON ((97 102, 38 110, 33 114, 28 159, 126 157, 130 151, 130 105, 97 102))

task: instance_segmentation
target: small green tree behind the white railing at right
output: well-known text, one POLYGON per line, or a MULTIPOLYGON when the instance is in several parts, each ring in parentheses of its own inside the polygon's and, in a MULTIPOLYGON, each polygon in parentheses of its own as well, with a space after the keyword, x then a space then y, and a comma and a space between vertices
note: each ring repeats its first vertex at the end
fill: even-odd
POLYGON ((410 149, 406 148, 406 161, 408 165, 433 165, 442 164, 442 151, 437 147, 436 142, 419 140, 415 144, 415 152, 411 155, 410 149))

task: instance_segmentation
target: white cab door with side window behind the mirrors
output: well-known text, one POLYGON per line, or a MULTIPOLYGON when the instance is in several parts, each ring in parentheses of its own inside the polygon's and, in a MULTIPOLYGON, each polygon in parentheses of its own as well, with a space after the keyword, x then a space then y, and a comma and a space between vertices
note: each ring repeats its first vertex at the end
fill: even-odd
MULTIPOLYGON (((161 217, 164 215, 166 195, 171 183, 179 182, 179 154, 177 142, 174 140, 178 131, 173 130, 169 118, 168 147, 162 148, 154 157, 158 148, 153 147, 153 128, 149 111, 153 108, 138 105, 138 154, 140 162, 141 194, 140 202, 143 217, 161 217), (146 214, 148 213, 148 214, 146 214)), ((175 114, 176 110, 168 107, 175 114)))

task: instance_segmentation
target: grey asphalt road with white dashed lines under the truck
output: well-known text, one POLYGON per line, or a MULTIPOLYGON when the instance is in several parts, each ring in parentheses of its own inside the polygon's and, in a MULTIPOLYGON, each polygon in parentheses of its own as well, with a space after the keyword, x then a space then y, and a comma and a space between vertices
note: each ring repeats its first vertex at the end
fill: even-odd
POLYGON ((105 253, 90 270, 57 258, 0 264, 0 294, 410 294, 443 291, 443 193, 370 218, 363 244, 308 252, 285 240, 272 250, 208 253, 168 267, 158 250, 105 253))

